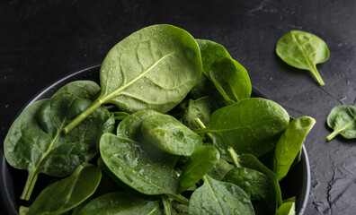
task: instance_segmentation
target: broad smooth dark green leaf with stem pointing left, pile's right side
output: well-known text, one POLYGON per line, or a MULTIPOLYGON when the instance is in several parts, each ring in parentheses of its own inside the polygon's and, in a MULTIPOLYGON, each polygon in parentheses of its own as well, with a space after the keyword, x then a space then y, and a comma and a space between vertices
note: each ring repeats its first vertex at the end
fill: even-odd
POLYGON ((288 125, 289 115, 279 104, 251 98, 218 109, 211 115, 209 127, 195 132, 211 133, 222 158, 230 161, 230 146, 238 154, 252 153, 257 157, 272 150, 288 125))

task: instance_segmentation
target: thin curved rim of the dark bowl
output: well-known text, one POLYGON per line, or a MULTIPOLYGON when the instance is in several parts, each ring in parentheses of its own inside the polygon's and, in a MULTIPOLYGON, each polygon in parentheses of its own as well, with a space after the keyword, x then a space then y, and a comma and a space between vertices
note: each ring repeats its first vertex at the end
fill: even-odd
MULTIPOLYGON (((38 94, 36 94, 32 99, 30 99, 26 103, 26 105, 22 107, 22 109, 15 116, 15 118, 17 118, 17 116, 19 116, 22 113, 22 110, 24 108, 28 107, 31 103, 33 103, 36 100, 43 97, 44 94, 49 93, 50 90, 61 85, 62 82, 66 82, 81 73, 86 73, 87 71, 90 71, 93 69, 100 69, 100 66, 101 66, 101 64, 95 64, 92 66, 88 66, 84 69, 81 69, 81 70, 75 72, 75 73, 67 74, 66 76, 58 79, 57 81, 50 83, 47 87, 40 90, 40 92, 38 94)), ((259 90, 258 88, 254 87, 254 86, 252 86, 252 88, 253 88, 254 92, 263 96, 263 98, 270 99, 270 97, 268 97, 265 93, 263 93, 263 91, 259 90)), ((3 143, 3 147, 4 147, 4 143, 3 143)), ((0 187, 1 187, 0 194, 1 195, 0 195, 0 197, 1 197, 1 200, 0 201, 4 205, 4 210, 7 211, 9 214, 18 214, 18 205, 16 203, 16 200, 11 198, 11 196, 14 196, 13 189, 12 189, 12 187, 7 186, 9 184, 12 185, 12 182, 11 182, 10 176, 9 176, 8 164, 4 158, 3 147, 1 147, 1 149, 0 149, 0 156, 1 156, 1 158, 0 158, 0 168, 1 168, 1 172, 0 172, 0 187)), ((301 196, 304 197, 303 202, 298 202, 298 204, 296 204, 296 210, 299 210, 298 215, 302 215, 307 208, 307 201, 308 201, 308 197, 309 197, 309 193, 310 193, 310 183, 311 183, 310 164, 309 164, 309 159, 307 156, 307 149, 306 149, 306 146, 304 143, 302 146, 302 157, 301 157, 300 163, 303 168, 303 173, 304 173, 303 178, 306 178, 307 180, 302 185, 303 189, 301 192, 301 196)))

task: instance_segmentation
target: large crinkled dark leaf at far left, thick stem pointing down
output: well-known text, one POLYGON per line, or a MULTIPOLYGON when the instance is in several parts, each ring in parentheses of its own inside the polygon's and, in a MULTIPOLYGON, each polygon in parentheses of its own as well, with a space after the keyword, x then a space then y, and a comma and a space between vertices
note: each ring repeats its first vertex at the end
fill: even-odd
POLYGON ((63 93, 32 103, 13 122, 4 140, 4 156, 14 168, 29 171, 22 199, 30 199, 40 173, 67 176, 98 152, 100 135, 111 132, 102 126, 110 116, 106 108, 95 110, 72 133, 62 132, 90 103, 89 99, 63 93))

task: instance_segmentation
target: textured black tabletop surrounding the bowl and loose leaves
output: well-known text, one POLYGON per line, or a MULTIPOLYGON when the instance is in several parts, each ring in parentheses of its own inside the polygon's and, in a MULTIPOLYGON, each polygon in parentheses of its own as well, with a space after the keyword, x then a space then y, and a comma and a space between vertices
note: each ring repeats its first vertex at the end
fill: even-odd
POLYGON ((0 141, 22 107, 67 74, 100 64, 135 30, 169 23, 223 46, 251 82, 291 116, 312 116, 307 136, 312 184, 305 214, 356 213, 356 141, 326 142, 330 110, 356 102, 356 1, 1 1, 0 141), (318 65, 325 86, 275 55, 289 30, 324 39, 331 56, 318 65))

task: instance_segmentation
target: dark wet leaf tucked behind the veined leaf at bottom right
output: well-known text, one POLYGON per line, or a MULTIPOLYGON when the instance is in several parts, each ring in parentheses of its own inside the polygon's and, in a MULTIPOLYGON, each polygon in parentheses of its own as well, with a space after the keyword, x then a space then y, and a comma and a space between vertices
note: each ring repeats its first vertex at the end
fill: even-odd
POLYGON ((250 196, 256 214, 276 212, 276 193, 270 178, 252 168, 233 168, 223 181, 238 185, 250 196))

